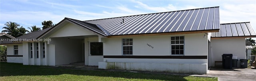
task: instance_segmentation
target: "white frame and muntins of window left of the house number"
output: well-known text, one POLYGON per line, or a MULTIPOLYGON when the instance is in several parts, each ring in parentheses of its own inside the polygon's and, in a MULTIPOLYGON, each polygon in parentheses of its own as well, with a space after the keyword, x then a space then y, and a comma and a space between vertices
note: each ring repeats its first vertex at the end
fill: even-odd
MULTIPOLYGON (((132 39, 132 45, 130 45, 130 39, 132 39, 132 38, 123 38, 122 39, 122 55, 124 55, 124 56, 132 56, 133 54, 134 54, 134 52, 133 52, 133 45, 134 45, 134 40, 132 39), (127 43, 127 42, 129 42, 129 45, 123 45, 123 43, 124 43, 124 41, 123 40, 126 40, 126 39, 129 39, 129 41, 125 41, 125 43, 127 43), (124 54, 124 46, 132 46, 132 54, 124 54)), ((127 50, 126 50, 127 51, 127 50)), ((128 51, 131 51, 131 50, 128 50, 128 51)))

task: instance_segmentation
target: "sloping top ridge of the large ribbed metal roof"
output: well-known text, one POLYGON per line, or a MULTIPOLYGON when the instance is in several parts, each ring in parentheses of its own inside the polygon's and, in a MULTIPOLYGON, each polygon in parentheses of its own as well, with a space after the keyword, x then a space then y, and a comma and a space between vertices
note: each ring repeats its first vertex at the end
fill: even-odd
MULTIPOLYGON (((220 7, 220 6, 206 7, 206 8, 217 8, 217 7, 220 7)), ((197 9, 203 9, 203 8, 195 8, 195 9, 187 9, 187 10, 197 10, 197 9)), ((178 12, 178 11, 186 11, 186 10, 176 10, 176 11, 169 11, 169 12, 178 12)), ((158 13, 168 13, 168 12, 158 12, 158 13)), ((156 13, 146 13, 146 14, 139 14, 139 15, 148 15, 148 14, 156 14, 156 13)), ((138 15, 129 15, 129 16, 138 16, 138 15)), ((121 17, 129 17, 129 16, 121 16, 121 17)), ((103 18, 103 19, 112 19, 112 18, 119 18, 119 17, 111 17, 111 18, 103 18)), ((102 20, 102 19, 93 19, 93 20, 85 20, 85 21, 94 21, 94 20, 102 20)))

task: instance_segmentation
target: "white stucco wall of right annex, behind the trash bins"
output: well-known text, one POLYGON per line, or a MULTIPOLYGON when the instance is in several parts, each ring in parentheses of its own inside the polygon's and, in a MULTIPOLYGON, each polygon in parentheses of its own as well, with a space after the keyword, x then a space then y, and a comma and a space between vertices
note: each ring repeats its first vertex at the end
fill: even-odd
MULTIPOLYGON (((233 54, 238 60, 246 58, 245 39, 212 39, 212 66, 215 61, 222 61, 222 54, 233 54)), ((239 66, 239 65, 238 65, 239 66)))

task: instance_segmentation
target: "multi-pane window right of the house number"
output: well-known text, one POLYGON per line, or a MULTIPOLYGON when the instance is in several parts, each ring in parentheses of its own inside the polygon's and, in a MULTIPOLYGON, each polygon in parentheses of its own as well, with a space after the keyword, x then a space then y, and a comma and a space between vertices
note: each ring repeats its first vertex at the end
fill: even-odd
POLYGON ((184 36, 171 37, 172 55, 184 55, 184 36))

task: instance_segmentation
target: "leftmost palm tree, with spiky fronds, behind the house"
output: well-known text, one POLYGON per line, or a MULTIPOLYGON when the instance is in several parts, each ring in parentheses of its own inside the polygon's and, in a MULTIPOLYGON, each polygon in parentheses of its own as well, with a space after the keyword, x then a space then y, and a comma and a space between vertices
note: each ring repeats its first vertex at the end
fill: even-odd
POLYGON ((9 35, 12 35, 12 36, 16 33, 18 27, 20 26, 17 23, 11 22, 11 21, 6 22, 4 25, 6 25, 6 27, 2 28, 2 29, 5 29, 2 32, 6 32, 6 33, 8 33, 9 35))

